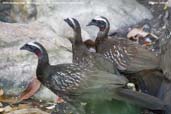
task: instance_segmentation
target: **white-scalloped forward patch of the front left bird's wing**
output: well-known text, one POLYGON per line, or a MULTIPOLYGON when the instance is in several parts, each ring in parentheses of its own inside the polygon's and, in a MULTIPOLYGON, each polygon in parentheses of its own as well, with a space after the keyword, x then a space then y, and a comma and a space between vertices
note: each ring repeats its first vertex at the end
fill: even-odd
POLYGON ((66 93, 77 90, 81 81, 84 80, 82 69, 74 64, 61 64, 57 67, 58 70, 49 76, 53 88, 66 93))

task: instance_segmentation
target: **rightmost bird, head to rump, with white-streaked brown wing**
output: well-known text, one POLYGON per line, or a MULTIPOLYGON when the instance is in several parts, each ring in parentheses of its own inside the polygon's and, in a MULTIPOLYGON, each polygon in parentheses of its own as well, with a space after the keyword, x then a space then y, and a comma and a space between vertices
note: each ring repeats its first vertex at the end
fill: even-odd
POLYGON ((121 72, 135 73, 148 69, 160 69, 160 58, 152 51, 123 37, 110 37, 110 23, 106 17, 97 16, 87 26, 99 28, 95 40, 96 52, 112 60, 121 72))

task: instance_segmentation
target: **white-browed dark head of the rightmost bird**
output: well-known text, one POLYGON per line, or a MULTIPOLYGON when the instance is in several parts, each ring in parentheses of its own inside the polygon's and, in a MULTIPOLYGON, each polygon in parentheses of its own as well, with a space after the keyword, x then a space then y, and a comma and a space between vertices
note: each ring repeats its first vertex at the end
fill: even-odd
POLYGON ((97 16, 93 18, 87 26, 96 26, 99 28, 100 31, 109 31, 109 21, 106 17, 103 16, 97 16))

